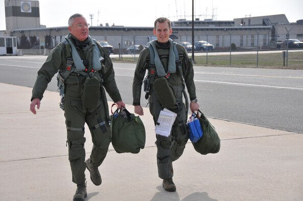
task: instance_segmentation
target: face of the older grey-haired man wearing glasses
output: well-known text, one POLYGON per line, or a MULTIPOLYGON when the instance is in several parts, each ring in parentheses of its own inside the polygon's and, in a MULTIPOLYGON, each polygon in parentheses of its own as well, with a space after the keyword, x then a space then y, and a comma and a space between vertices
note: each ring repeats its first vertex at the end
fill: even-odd
POLYGON ((73 36, 75 36, 80 41, 84 41, 88 37, 88 26, 84 17, 74 18, 73 25, 71 27, 68 27, 68 30, 71 34, 73 34, 73 36))

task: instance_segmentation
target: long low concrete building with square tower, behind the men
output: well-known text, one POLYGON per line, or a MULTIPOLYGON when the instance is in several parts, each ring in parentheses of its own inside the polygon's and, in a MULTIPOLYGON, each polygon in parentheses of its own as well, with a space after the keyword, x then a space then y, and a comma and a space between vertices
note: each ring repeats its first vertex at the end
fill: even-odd
MULTIPOLYGON (((39 54, 41 48, 52 49, 65 40, 68 27, 46 28, 40 25, 39 2, 5 0, 6 33, 17 37, 17 46, 24 54, 27 49, 39 54)), ((283 29, 288 26, 290 34, 301 37, 302 24, 291 24, 286 16, 271 15, 260 17, 236 18, 234 20, 194 20, 194 41, 208 41, 215 49, 228 49, 231 43, 239 48, 275 47, 275 42, 282 40, 285 35, 283 29), (293 28, 298 26, 298 29, 293 28)), ((171 38, 175 42, 192 42, 192 20, 179 19, 172 22, 171 38)), ((96 26, 89 28, 89 35, 100 41, 107 41, 118 53, 119 47, 125 53, 132 44, 146 46, 154 39, 153 27, 124 27, 124 26, 96 26)), ((43 51, 42 51, 43 52, 43 51)))

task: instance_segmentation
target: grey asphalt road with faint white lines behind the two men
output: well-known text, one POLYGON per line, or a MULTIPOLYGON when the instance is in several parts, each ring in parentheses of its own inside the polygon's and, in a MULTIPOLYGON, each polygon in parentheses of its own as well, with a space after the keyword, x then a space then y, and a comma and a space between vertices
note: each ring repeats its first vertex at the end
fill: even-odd
MULTIPOLYGON (((0 82, 33 87, 45 59, 0 57, 0 82)), ((135 64, 114 63, 114 69, 123 101, 132 104, 135 64)), ((303 70, 195 66, 195 83, 206 116, 303 133, 303 70)), ((57 91, 56 84, 54 77, 48 90, 57 91)))

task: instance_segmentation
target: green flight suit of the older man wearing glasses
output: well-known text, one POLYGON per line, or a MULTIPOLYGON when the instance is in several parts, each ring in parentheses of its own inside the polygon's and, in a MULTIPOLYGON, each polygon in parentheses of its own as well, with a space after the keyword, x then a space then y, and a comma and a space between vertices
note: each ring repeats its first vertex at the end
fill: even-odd
MULTIPOLYGON (((72 36, 77 52, 81 60, 85 60, 87 72, 92 70, 92 50, 94 44, 88 42, 85 47, 78 47, 75 38, 72 36)), ((99 44, 98 44, 99 45, 99 44)), ((85 109, 81 99, 81 89, 86 80, 86 76, 72 72, 64 81, 64 116, 67 129, 68 160, 72 169, 72 181, 76 184, 83 183, 85 178, 85 137, 84 124, 88 125, 91 133, 93 147, 90 154, 92 163, 100 166, 108 152, 108 146, 111 142, 111 132, 109 127, 109 114, 105 90, 116 103, 122 101, 118 87, 114 79, 114 70, 109 51, 101 47, 101 55, 104 57, 101 71, 96 71, 95 76, 101 82, 96 108, 85 109)), ((45 63, 38 71, 37 80, 33 87, 32 98, 43 97, 43 93, 59 69, 67 70, 66 54, 69 49, 64 43, 59 43, 50 53, 45 63)), ((70 56, 71 54, 69 54, 70 56)), ((59 97, 58 97, 59 99, 59 97)))

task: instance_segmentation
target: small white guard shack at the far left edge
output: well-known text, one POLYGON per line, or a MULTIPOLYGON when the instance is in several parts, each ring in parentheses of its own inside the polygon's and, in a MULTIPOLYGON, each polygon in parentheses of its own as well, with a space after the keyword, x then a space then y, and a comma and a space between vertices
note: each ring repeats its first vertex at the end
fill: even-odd
POLYGON ((0 55, 17 55, 17 37, 0 37, 0 55))

